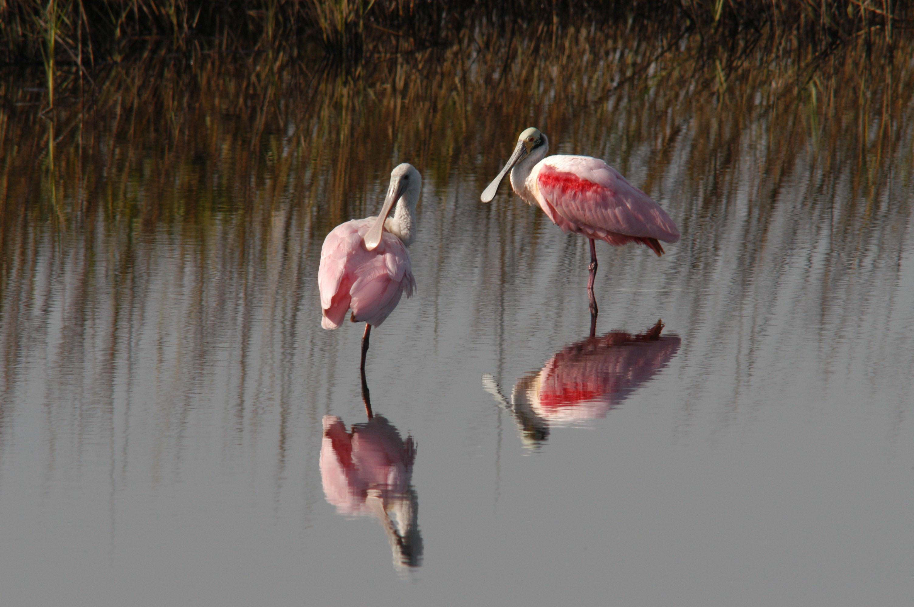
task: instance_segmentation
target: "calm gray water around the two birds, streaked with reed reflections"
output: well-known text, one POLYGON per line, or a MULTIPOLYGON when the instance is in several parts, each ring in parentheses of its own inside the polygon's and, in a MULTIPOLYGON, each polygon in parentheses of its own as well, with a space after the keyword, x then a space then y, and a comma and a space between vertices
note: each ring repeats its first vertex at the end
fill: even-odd
POLYGON ((139 101, 75 130, 5 110, 5 604, 914 602, 909 97, 563 113, 547 79, 529 115, 382 87, 350 123, 326 86, 256 135, 254 102, 185 104, 170 139, 139 101), (479 203, 530 124, 682 231, 662 258, 598 244, 602 340, 586 240, 504 185, 479 203), (347 496, 324 427, 367 423, 362 326, 321 329, 316 271, 400 161, 419 291, 372 334, 356 433, 396 487, 347 496))

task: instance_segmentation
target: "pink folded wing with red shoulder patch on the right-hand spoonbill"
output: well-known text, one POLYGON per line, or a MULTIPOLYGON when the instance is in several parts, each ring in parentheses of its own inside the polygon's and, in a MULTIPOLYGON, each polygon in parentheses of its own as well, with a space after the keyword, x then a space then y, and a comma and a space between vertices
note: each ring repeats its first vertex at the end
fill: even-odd
POLYGON ((679 229, 660 205, 599 158, 548 156, 531 177, 537 202, 566 232, 615 246, 638 242, 657 255, 664 252, 657 241, 679 240, 679 229))

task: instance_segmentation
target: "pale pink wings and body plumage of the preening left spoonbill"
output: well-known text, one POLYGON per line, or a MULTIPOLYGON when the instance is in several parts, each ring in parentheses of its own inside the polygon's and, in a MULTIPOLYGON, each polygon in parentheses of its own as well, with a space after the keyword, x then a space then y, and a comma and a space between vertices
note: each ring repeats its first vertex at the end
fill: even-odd
POLYGON ((362 238, 373 222, 347 221, 324 239, 317 272, 324 329, 339 327, 348 309, 354 322, 377 327, 397 307, 403 292, 409 298, 416 288, 409 252, 397 236, 385 232, 375 250, 365 248, 362 238))

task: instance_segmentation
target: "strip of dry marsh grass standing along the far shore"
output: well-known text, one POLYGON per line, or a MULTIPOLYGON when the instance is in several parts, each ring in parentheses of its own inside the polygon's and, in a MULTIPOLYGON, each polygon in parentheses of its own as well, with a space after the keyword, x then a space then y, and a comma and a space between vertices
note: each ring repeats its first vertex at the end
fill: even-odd
POLYGON ((0 0, 0 64, 92 70, 154 50, 377 58, 458 44, 461 33, 537 26, 663 28, 710 45, 734 38, 890 46, 914 27, 904 0, 0 0))

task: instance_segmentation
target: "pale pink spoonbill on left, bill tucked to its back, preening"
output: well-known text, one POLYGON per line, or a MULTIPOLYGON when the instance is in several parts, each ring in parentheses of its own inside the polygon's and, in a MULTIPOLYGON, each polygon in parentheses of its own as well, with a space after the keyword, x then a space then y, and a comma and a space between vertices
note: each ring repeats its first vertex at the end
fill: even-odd
POLYGON ((406 292, 416 288, 407 247, 416 237, 416 203, 422 178, 409 162, 390 173, 387 198, 377 217, 352 219, 324 238, 317 285, 321 291, 324 329, 336 329, 352 309, 353 322, 365 322, 362 366, 372 327, 380 326, 406 292), (394 203, 397 211, 388 217, 394 203))

